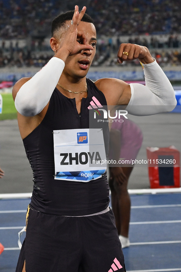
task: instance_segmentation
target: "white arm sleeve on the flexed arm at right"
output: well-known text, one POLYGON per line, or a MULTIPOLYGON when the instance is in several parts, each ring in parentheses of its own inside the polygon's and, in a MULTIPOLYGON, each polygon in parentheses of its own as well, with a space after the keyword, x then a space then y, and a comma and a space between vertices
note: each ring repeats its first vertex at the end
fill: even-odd
POLYGON ((132 115, 153 115, 172 111, 176 106, 173 87, 157 64, 142 64, 145 74, 145 86, 130 84, 131 98, 126 110, 132 115))

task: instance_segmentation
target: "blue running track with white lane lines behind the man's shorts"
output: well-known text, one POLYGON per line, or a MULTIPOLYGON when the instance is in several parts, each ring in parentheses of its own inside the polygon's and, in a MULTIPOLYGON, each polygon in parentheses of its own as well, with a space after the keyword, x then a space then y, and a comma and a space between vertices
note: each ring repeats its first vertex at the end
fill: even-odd
MULTIPOLYGON (((20 252, 17 233, 25 226, 29 202, 0 200, 2 272, 15 271, 20 252)), ((123 249, 126 271, 181 271, 181 193, 131 195, 131 204, 131 244, 123 249)))

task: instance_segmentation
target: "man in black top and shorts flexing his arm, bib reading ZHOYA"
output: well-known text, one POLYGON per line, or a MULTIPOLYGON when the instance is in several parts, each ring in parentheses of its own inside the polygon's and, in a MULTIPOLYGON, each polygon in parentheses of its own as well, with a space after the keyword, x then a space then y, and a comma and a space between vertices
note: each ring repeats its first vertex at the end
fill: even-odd
MULTIPOLYGON (((50 45, 55 56, 35 76, 23 78, 13 87, 34 181, 18 272, 125 271, 108 207, 106 173, 102 169, 92 173, 87 162, 96 154, 96 150, 86 149, 89 106, 93 101, 97 105, 128 105, 132 114, 149 115, 159 112, 157 105, 170 111, 176 104, 164 72, 148 49, 139 45, 122 44, 118 60, 139 58, 147 87, 118 79, 100 79, 95 84, 86 79, 97 41, 95 26, 85 10, 83 7, 79 13, 75 6, 74 12, 54 19, 50 45), (153 107, 132 112, 131 105, 153 107)), ((96 141, 103 143, 102 130, 96 133, 96 141)))

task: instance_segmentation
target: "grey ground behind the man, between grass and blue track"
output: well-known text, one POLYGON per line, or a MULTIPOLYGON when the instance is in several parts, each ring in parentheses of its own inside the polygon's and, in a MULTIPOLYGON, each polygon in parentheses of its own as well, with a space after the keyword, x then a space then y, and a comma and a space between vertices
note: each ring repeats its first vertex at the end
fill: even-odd
MULTIPOLYGON (((138 160, 146 160, 146 147, 174 145, 181 150, 181 114, 166 113, 147 117, 129 115, 143 132, 144 140, 138 160)), ((0 121, 0 166, 5 176, 0 179, 0 193, 32 192, 32 170, 25 154, 17 120, 0 121)), ((135 165, 129 189, 150 188, 147 165, 135 165)))

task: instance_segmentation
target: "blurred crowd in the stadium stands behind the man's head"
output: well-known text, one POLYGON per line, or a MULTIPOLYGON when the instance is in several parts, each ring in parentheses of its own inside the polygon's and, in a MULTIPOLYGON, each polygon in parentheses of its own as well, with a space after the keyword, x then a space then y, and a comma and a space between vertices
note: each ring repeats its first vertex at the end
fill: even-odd
MULTIPOLYGON (((0 0, 0 67, 42 67, 52 57, 51 21, 86 5, 97 29, 92 65, 114 66, 120 43, 147 46, 161 66, 181 65, 181 1, 0 0)), ((140 65, 138 60, 131 64, 140 65)))

